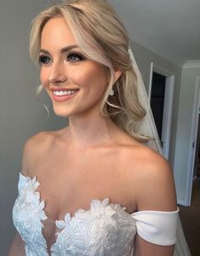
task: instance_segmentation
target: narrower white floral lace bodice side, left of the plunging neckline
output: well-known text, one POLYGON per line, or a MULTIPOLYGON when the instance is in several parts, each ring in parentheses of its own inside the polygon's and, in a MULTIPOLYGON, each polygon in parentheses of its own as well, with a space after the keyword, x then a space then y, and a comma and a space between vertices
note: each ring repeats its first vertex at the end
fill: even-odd
POLYGON ((36 191, 40 183, 29 177, 21 177, 19 196, 14 203, 13 219, 19 235, 25 241, 26 255, 47 256, 47 242, 42 236, 42 220, 47 219, 40 201, 40 193, 36 191), (32 253, 34 252, 34 253, 32 253))

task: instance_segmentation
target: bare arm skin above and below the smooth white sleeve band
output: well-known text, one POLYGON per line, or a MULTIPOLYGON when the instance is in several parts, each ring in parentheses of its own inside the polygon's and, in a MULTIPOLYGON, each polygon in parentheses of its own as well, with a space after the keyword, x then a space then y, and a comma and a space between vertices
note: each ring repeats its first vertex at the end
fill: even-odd
MULTIPOLYGON (((137 211, 176 211, 175 183, 169 162, 154 151, 144 152, 142 162, 142 168, 136 174, 137 211)), ((136 235, 136 256, 172 256, 174 247, 156 245, 136 235)))

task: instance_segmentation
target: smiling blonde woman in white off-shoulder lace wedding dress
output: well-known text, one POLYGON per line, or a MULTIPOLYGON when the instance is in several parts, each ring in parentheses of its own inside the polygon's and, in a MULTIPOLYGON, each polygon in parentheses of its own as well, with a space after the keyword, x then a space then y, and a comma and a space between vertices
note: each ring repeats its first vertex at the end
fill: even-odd
POLYGON ((9 256, 173 255, 173 175, 138 133, 146 112, 128 48, 105 0, 67 1, 34 20, 38 93, 69 125, 25 143, 9 256))

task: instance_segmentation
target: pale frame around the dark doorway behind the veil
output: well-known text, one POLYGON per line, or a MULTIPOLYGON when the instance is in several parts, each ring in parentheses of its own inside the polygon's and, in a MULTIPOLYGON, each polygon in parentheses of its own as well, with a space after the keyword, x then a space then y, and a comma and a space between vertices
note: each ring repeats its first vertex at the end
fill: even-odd
POLYGON ((165 92, 164 92, 164 117, 163 117, 163 128, 162 128, 162 138, 164 141, 163 152, 164 157, 169 160, 169 144, 170 144, 170 132, 171 132, 171 119, 172 119, 172 107, 173 107, 173 97, 175 88, 175 74, 151 62, 150 67, 150 78, 148 87, 148 100, 150 103, 152 94, 152 82, 153 82, 153 72, 166 77, 165 82, 165 92))

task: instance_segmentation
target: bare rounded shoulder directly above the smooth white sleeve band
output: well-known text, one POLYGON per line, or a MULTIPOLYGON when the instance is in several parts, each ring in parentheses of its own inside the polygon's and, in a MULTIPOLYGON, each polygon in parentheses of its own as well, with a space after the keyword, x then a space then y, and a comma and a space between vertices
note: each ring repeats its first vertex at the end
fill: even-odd
POLYGON ((130 154, 133 157, 129 161, 129 174, 137 210, 175 210, 175 183, 169 162, 144 145, 136 145, 130 154))

